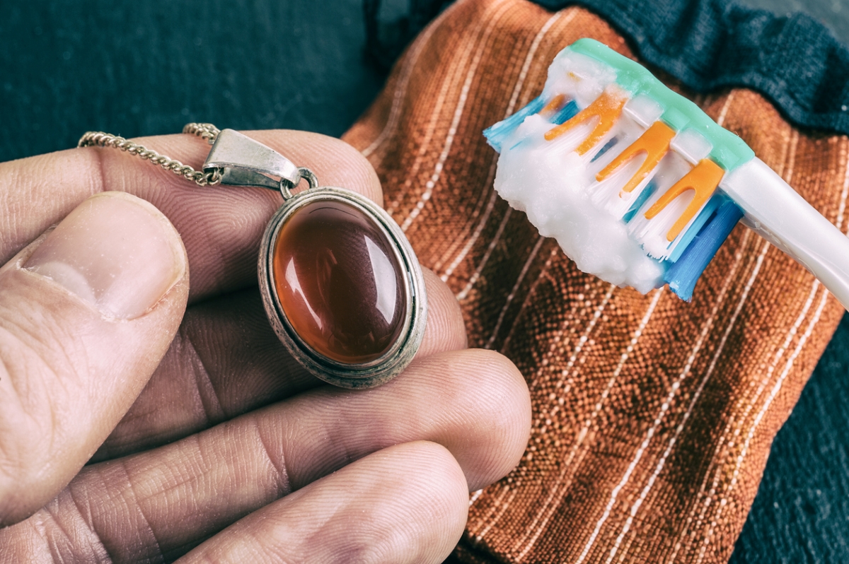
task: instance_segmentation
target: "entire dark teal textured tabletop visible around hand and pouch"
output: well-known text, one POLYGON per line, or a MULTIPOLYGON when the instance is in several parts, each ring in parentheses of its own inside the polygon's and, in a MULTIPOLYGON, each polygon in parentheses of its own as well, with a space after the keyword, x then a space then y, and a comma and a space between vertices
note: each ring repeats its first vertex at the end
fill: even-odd
MULTIPOLYGON (((842 0, 744 3, 807 12, 849 42, 842 0)), ((386 20, 407 5, 387 4, 386 20)), ((0 8, 0 161, 70 148, 87 130, 134 137, 195 120, 339 136, 384 79, 363 56, 360 0, 0 0, 0 8)), ((849 562, 847 370, 844 317, 773 444, 734 564, 849 562)))

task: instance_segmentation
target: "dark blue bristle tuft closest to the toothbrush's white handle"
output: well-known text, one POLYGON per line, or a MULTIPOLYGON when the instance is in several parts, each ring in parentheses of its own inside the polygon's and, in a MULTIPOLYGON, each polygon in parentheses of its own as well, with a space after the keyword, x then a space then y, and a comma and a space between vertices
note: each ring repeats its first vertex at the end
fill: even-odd
POLYGON ((741 217, 743 211, 726 198, 711 221, 687 246, 678 262, 669 267, 663 282, 669 284, 669 288, 679 298, 687 301, 693 299, 695 282, 741 217))

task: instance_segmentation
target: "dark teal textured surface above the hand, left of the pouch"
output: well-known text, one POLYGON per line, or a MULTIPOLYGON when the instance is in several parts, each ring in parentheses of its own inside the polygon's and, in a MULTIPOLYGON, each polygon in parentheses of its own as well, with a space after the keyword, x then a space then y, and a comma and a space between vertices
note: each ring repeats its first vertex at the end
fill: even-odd
POLYGON ((0 0, 0 161, 188 121, 339 136, 376 96, 360 0, 0 0))

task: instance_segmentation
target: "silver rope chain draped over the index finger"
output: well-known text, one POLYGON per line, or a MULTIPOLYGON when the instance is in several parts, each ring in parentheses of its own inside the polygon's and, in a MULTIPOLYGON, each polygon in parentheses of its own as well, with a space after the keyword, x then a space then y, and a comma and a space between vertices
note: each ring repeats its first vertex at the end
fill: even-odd
MULTIPOLYGON (((183 133, 196 135, 201 139, 205 139, 210 145, 215 142, 220 132, 221 130, 211 123, 188 123, 183 127, 183 133)), ((198 186, 215 186, 221 182, 222 178, 222 170, 215 169, 206 172, 203 170, 194 170, 191 166, 183 165, 178 160, 161 155, 136 142, 127 141, 124 137, 104 133, 104 131, 87 131, 80 137, 80 141, 76 143, 76 146, 120 149, 129 154, 137 155, 143 160, 149 160, 154 165, 159 165, 165 170, 171 170, 177 176, 183 176, 183 178, 193 181, 198 186)))

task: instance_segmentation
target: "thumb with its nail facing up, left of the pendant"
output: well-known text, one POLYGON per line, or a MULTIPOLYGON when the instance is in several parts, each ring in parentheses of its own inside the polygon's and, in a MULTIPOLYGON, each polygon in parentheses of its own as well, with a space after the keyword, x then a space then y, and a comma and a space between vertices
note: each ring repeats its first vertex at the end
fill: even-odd
POLYGON ((79 472, 177 332, 188 261, 126 193, 85 200, 0 268, 0 526, 79 472))

